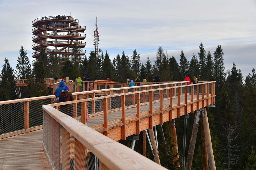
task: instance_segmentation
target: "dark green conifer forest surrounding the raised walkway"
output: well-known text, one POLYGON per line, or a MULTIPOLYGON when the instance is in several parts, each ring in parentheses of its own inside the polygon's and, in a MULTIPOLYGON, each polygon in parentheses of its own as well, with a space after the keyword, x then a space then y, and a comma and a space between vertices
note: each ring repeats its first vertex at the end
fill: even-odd
MULTIPOLYGON (((154 61, 149 57, 145 63, 141 62, 140 54, 134 50, 132 56, 123 51, 121 55, 112 60, 105 52, 96 56, 93 51, 89 56, 79 55, 79 46, 74 44, 70 60, 59 62, 61 57, 54 52, 46 56, 44 50, 40 51, 40 58, 33 63, 29 61, 26 50, 21 46, 17 59, 16 69, 12 68, 9 60, 5 58, 0 75, 0 101, 17 99, 15 93, 15 80, 28 79, 27 87, 22 89, 23 98, 50 95, 50 90, 44 87, 45 78, 90 76, 90 80, 106 80, 108 77, 115 82, 127 82, 127 79, 146 79, 147 82, 160 76, 161 81, 183 81, 185 75, 191 80, 196 76, 198 81, 215 80, 216 107, 207 108, 210 125, 212 146, 216 169, 256 169, 256 74, 255 69, 245 78, 235 63, 225 72, 224 53, 221 45, 212 52, 205 51, 202 43, 199 45, 198 56, 193 54, 187 60, 181 50, 179 63, 174 56, 164 52, 158 47, 154 61)), ((188 151, 195 113, 189 113, 187 121, 186 151, 188 151)), ((170 123, 163 124, 166 135, 166 144, 163 145, 159 131, 159 156, 162 166, 168 169, 182 169, 183 148, 183 119, 175 119, 177 130, 177 143, 172 143, 170 123), (179 160, 171 148, 179 148, 179 160), (165 154, 164 148, 169 148, 165 154), (177 167, 175 165, 180 165, 177 167)), ((157 129, 159 130, 159 129, 157 129)), ((192 169, 202 169, 201 131, 198 129, 192 169)), ((142 137, 140 137, 142 139, 142 137)), ((130 141, 119 141, 127 146, 130 141)), ((147 157, 154 160, 153 154, 147 144, 147 157)), ((136 142, 135 151, 142 153, 142 140, 136 142)), ((186 153, 187 154, 187 153, 186 153)), ((187 155, 186 155, 187 157, 187 155)), ((185 157, 185 158, 186 158, 185 157)))

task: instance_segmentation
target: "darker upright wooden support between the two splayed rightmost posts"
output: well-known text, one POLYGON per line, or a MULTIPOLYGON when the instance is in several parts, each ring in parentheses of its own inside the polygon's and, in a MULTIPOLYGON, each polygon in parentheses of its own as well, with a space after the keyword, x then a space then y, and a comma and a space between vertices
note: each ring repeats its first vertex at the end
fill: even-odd
MULTIPOLYGON (((202 112, 200 114, 202 114, 202 112)), ((206 142, 205 142, 205 134, 204 134, 202 115, 200 117, 200 121, 201 121, 201 137, 202 137, 203 170, 208 170, 209 169, 208 155, 207 155, 207 148, 206 148, 206 142)))

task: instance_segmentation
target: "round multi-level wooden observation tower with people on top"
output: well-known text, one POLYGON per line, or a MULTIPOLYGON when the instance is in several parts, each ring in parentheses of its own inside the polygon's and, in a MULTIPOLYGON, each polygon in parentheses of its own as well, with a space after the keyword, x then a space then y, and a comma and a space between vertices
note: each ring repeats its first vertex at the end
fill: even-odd
POLYGON ((79 25, 79 20, 73 16, 45 16, 33 20, 32 26, 32 42, 35 43, 32 45, 32 57, 35 59, 32 64, 40 57, 41 49, 47 56, 56 53, 60 62, 77 62, 85 55, 86 26, 79 25), (75 59, 72 56, 76 56, 75 59))

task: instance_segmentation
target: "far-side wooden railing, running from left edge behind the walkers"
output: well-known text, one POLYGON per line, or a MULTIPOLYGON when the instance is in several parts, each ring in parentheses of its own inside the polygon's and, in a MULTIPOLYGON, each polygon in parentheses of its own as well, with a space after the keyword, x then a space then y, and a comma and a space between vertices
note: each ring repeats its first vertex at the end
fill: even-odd
MULTIPOLYGON (((180 86, 181 84, 186 84, 186 82, 173 82, 170 83, 169 86, 172 86, 171 88, 173 89, 173 97, 176 97, 177 99, 180 100, 178 97, 185 95, 185 92, 181 92, 182 88, 189 87, 191 88, 191 91, 193 91, 193 84, 188 85, 188 86, 180 86), (177 90, 179 87, 180 90, 177 90), (180 92, 178 92, 180 91, 180 92)), ((177 106, 182 107, 184 104, 186 104, 187 107, 187 112, 191 112, 193 110, 198 109, 199 107, 202 106, 208 106, 209 104, 214 104, 215 103, 215 81, 209 81, 209 82, 201 82, 197 84, 198 90, 197 93, 198 95, 196 98, 194 97, 194 94, 191 93, 191 99, 186 100, 186 102, 180 102, 179 104, 177 103, 177 106), (203 91, 205 91, 205 95, 199 94, 203 91), (210 93, 211 92, 211 93, 210 93), (193 97, 192 97, 193 96, 193 97), (190 109, 190 110, 189 110, 190 109)), ((127 86, 127 84, 125 85, 127 86)), ((113 94, 117 96, 122 96, 120 93, 126 93, 126 95, 133 96, 132 98, 126 98, 127 100, 130 100, 130 105, 126 106, 126 108, 134 107, 136 106, 136 101, 137 99, 135 96, 137 96, 137 90, 143 90, 143 92, 140 92, 141 94, 141 103, 148 102, 149 103, 149 93, 152 90, 154 86, 160 86, 160 84, 155 84, 151 86, 136 86, 134 88, 124 88, 124 89, 103 89, 103 90, 95 90, 95 91, 86 91, 86 92, 76 92, 73 93, 75 100, 77 99, 85 99, 86 101, 90 103, 90 117, 93 117, 95 115, 103 114, 103 109, 98 109, 98 105, 96 105, 96 102, 102 102, 103 98, 105 97, 106 94, 113 94), (138 89, 140 88, 140 89, 138 89), (128 89, 129 93, 128 92, 128 89), (146 91, 145 91, 146 90, 146 91), (95 96, 100 96, 101 98, 95 98, 95 96), (103 98, 102 98, 103 97, 103 98), (98 101, 97 101, 98 100, 98 101)), ((166 86, 166 85, 165 85, 166 86)), ((169 87, 168 87, 169 88, 169 87)), ((167 89, 168 89, 167 88, 167 89)), ((164 96, 170 96, 170 93, 168 94, 168 90, 163 89, 163 94, 164 96)), ((156 95, 152 95, 152 100, 157 101, 159 99, 159 96, 161 93, 157 90, 154 92, 157 94, 158 98, 155 99, 156 95)), ((202 94, 202 93, 201 93, 202 94)), ((124 95, 124 94, 123 94, 124 95)), ((188 96, 188 95, 185 95, 188 96)), ((186 97, 187 98, 187 97, 186 97)), ((0 131, 0 139, 5 138, 5 137, 10 137, 22 133, 28 133, 33 130, 41 129, 42 128, 42 105, 47 105, 51 104, 53 100, 55 99, 55 95, 50 95, 50 96, 42 96, 42 97, 32 97, 32 98, 25 98, 25 99, 16 99, 16 100, 11 100, 11 101, 2 101, 0 102, 0 112, 2 113, 0 116, 1 118, 1 131, 0 131), (41 112, 41 113, 40 113, 41 112), (3 116, 6 114, 8 116, 7 118, 3 116), (15 115, 15 117, 14 117, 15 115), (13 118, 12 118, 13 117, 13 118), (10 123, 11 122, 11 123, 10 123), (17 126, 17 127, 15 127, 17 126)), ((164 98, 166 100, 167 98, 164 98)), ((172 99, 172 98, 170 98, 172 99)), ((73 104, 74 107, 74 117, 76 118, 77 115, 81 115, 81 110, 77 110, 77 103, 76 101, 70 102, 73 104)), ((103 103, 103 102, 102 102, 103 103)), ((111 102, 109 102, 109 107, 111 102)), ((146 103, 145 103, 146 104, 146 103)), ((60 104, 54 104, 53 106, 57 106, 60 104)), ((168 107, 168 106, 166 106, 168 107)), ((120 110, 120 108, 115 108, 116 110, 120 110)), ((160 110, 160 109, 159 109, 160 110)), ((114 111, 114 110, 113 110, 114 111)), ((173 109, 173 112, 177 112, 176 109, 173 109)), ((81 119, 81 117, 76 118, 76 119, 81 119)), ((171 119, 170 119, 171 120, 171 119)), ((103 127, 106 125, 101 125, 99 127, 103 127)), ((94 129, 97 129, 94 127, 94 129)), ((102 132, 102 130, 101 130, 102 132)))

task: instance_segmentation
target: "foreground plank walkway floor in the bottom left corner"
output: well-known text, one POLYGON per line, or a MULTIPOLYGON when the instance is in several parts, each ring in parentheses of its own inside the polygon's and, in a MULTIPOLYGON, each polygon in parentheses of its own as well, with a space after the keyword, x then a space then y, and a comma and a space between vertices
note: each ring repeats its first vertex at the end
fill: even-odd
POLYGON ((43 146, 43 129, 0 140, 0 169, 51 169, 43 146))

